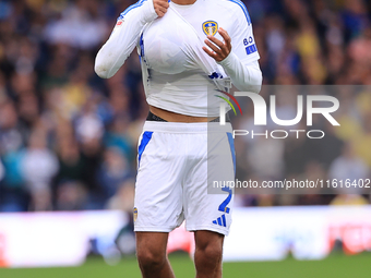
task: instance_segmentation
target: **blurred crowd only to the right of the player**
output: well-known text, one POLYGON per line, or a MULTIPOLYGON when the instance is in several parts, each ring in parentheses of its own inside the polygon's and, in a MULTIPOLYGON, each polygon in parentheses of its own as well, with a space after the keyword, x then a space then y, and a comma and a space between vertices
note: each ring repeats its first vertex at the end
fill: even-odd
POLYGON ((321 130, 325 137, 311 140, 306 133, 299 138, 291 133, 286 140, 274 140, 271 135, 267 140, 238 136, 237 178, 260 182, 337 180, 343 181, 343 189, 338 184, 330 191, 301 190, 300 195, 272 194, 274 191, 270 190, 260 195, 240 195, 238 203, 247 206, 369 204, 370 189, 346 189, 345 181, 358 183, 371 177, 371 2, 252 0, 247 4, 255 23, 254 35, 266 84, 261 95, 266 104, 275 95, 278 119, 292 120, 297 116, 298 95, 304 98, 330 95, 339 100, 340 108, 333 116, 340 126, 316 116, 313 126, 306 125, 304 117, 296 126, 279 126, 271 121, 267 129, 261 129, 253 125, 250 101, 243 109, 248 113, 237 119, 240 130, 250 134, 266 130, 268 133, 321 130))

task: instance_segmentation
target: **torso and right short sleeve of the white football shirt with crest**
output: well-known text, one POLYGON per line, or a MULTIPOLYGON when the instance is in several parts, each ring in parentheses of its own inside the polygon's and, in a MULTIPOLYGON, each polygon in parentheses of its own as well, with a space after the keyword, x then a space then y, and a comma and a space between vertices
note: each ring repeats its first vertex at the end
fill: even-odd
MULTIPOLYGON (((239 0, 198 0, 191 5, 170 2, 164 17, 147 24, 137 45, 147 102, 176 113, 218 117, 220 86, 208 76, 227 77, 203 50, 204 39, 223 27, 232 52, 243 64, 260 59, 249 12, 239 0)), ((220 83, 220 82, 219 82, 220 83)), ((222 82, 223 83, 223 82, 222 82)))

